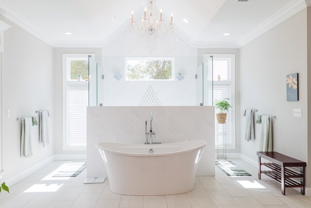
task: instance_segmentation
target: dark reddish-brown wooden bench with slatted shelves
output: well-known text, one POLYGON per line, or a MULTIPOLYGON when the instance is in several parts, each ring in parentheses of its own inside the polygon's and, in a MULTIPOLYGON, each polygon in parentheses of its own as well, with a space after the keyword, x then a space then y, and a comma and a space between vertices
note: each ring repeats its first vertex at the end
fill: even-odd
POLYGON ((305 194, 305 168, 307 166, 305 162, 276 151, 258 151, 257 155, 259 179, 261 179, 261 173, 273 178, 281 184, 283 195, 285 195, 285 188, 300 188, 301 194, 305 194), (271 161, 271 163, 261 163, 261 158, 271 161), (261 170, 261 166, 268 167, 270 170, 261 170), (300 172, 289 169, 289 167, 300 167, 300 172), (292 178, 300 178, 300 183, 292 178))

